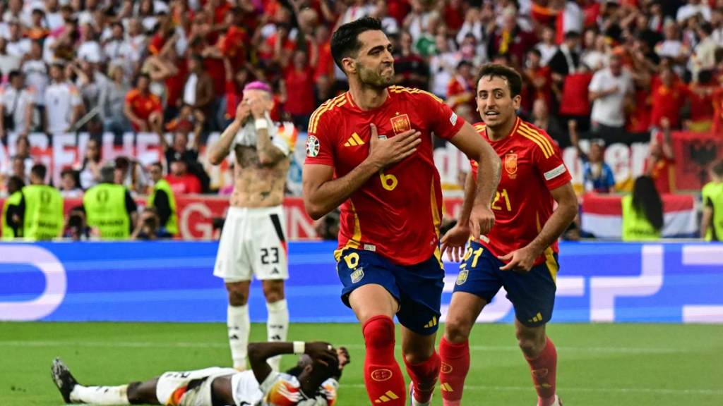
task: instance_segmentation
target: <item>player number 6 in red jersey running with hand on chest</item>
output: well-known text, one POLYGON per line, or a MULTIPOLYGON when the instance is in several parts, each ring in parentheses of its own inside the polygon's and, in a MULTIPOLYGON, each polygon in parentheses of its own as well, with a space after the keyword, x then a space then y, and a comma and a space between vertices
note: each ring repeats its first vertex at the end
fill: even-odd
POLYGON ((500 160, 474 128, 421 90, 394 86, 391 44, 364 17, 333 34, 331 53, 350 90, 312 115, 304 164, 304 205, 319 219, 341 205, 337 271, 343 302, 363 325, 364 383, 372 405, 406 404, 394 358, 394 322, 411 376, 411 405, 429 405, 440 371, 435 352, 444 269, 439 249, 440 176, 432 137, 479 160, 473 235, 492 229, 490 203, 500 160))

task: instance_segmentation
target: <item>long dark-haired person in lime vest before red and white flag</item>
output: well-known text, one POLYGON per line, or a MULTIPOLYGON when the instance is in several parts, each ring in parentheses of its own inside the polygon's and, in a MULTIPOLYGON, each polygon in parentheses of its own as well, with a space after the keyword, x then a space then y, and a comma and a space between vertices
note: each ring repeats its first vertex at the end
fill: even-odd
POLYGON ((656 241, 663 229, 663 202, 650 176, 635 180, 633 194, 623 196, 623 241, 656 241))

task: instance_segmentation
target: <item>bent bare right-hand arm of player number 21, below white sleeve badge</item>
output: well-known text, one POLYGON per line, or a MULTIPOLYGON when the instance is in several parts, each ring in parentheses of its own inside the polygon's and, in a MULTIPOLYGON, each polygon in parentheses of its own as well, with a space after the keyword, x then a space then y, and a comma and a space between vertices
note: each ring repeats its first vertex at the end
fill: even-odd
POLYGON ((547 223, 542 227, 539 233, 531 243, 523 249, 510 252, 505 256, 498 256, 501 261, 508 262, 501 270, 513 270, 515 272, 529 272, 535 259, 542 255, 552 243, 562 236, 562 233, 568 229, 570 223, 573 223, 578 213, 578 198, 573 189, 573 184, 568 182, 564 185, 552 189, 550 191, 552 198, 557 202, 557 208, 552 212, 547 223))

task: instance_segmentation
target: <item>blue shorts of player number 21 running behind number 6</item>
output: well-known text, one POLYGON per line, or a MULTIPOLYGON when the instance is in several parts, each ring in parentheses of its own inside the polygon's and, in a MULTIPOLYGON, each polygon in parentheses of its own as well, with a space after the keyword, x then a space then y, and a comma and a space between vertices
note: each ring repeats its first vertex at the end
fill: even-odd
POLYGON ((467 252, 465 261, 460 265, 455 292, 471 293, 489 303, 500 288, 504 287, 507 298, 515 306, 515 317, 522 324, 539 327, 552 319, 557 290, 555 277, 557 269, 560 269, 557 254, 549 254, 547 262, 521 274, 511 269, 500 271, 500 267, 504 267, 505 263, 481 243, 471 241, 467 252))

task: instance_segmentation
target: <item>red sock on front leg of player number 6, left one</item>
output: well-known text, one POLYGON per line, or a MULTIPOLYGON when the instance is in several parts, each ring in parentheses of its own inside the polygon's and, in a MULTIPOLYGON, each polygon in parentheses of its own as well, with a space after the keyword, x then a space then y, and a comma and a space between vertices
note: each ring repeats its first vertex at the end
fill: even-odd
POLYGON ((405 406, 404 376, 394 358, 394 321, 375 316, 362 327, 367 356, 364 358, 364 385, 372 405, 405 406))

